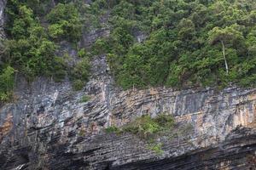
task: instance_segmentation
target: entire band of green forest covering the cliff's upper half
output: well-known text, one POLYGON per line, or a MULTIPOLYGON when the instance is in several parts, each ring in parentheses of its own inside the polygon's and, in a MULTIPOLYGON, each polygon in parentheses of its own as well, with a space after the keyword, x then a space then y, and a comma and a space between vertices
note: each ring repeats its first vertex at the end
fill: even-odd
MULTIPOLYGON (((124 89, 255 85, 253 0, 10 0, 5 13, 9 40, 3 43, 0 75, 8 67, 29 80, 61 81, 69 75, 74 89, 81 89, 89 76, 88 56, 107 54, 111 73, 124 89), (111 28, 109 37, 78 49, 81 61, 71 68, 56 53, 58 44, 65 40, 76 46, 90 27, 86 23, 101 27, 100 16, 111 28)), ((2 100, 11 94, 8 89, 1 86, 2 100)))

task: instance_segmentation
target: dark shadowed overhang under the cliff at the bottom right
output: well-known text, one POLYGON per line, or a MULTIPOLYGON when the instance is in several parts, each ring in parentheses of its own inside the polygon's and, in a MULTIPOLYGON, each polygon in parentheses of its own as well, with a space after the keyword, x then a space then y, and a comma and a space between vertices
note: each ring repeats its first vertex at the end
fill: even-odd
POLYGON ((212 147, 194 150, 183 156, 144 160, 111 167, 112 170, 256 169, 255 130, 238 127, 229 139, 212 147), (245 135, 246 134, 246 135, 245 135), (245 136, 244 136, 245 135, 245 136))

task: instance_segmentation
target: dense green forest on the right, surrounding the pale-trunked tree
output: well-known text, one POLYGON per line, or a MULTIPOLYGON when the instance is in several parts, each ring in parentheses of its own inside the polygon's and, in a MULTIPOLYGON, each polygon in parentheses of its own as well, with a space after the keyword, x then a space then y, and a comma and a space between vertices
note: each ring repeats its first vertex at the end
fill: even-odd
POLYGON ((253 86, 255 8, 240 0, 115 2, 103 45, 113 77, 124 89, 253 86), (138 42, 141 32, 147 38, 138 42))

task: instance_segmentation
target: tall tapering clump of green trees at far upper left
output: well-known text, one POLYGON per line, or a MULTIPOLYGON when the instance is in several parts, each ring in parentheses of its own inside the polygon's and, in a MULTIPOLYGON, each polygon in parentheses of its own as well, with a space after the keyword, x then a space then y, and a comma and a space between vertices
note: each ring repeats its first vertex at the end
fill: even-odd
POLYGON ((31 8, 18 4, 14 22, 10 25, 10 37, 5 42, 3 61, 15 67, 27 78, 52 76, 55 65, 55 43, 51 42, 31 8), (13 27, 11 27, 13 26, 13 27))

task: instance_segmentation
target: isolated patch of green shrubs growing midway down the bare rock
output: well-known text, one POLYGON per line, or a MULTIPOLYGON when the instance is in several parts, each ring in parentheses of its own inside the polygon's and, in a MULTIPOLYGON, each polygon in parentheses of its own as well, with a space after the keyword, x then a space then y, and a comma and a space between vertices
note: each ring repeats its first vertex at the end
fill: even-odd
POLYGON ((155 117, 148 115, 137 117, 121 127, 107 127, 105 132, 118 135, 131 133, 137 138, 143 139, 149 150, 153 150, 156 154, 162 154, 162 148, 168 142, 176 140, 177 146, 179 146, 180 140, 189 141, 189 134, 193 132, 193 126, 190 122, 176 122, 172 115, 161 113, 155 117))

